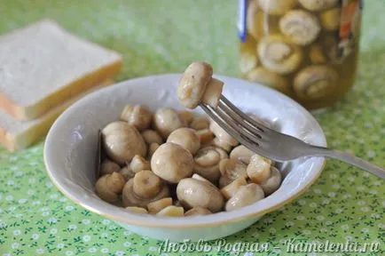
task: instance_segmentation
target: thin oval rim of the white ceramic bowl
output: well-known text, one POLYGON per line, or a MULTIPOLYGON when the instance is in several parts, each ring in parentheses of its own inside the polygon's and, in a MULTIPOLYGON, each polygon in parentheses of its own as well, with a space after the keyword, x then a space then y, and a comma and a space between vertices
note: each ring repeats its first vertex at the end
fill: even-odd
MULTIPOLYGON (((50 161, 47 158, 48 157, 47 155, 49 155, 49 148, 50 148, 50 145, 52 143, 51 141, 54 140, 54 138, 52 138, 52 133, 53 133, 52 131, 54 131, 56 129, 56 127, 59 125, 59 123, 62 122, 60 120, 62 120, 62 118, 64 118, 63 116, 66 116, 67 113, 71 112, 72 108, 76 108, 76 105, 80 101, 84 101, 84 100, 86 100, 86 98, 88 99, 88 98, 92 97, 93 95, 103 93, 106 90, 114 90, 113 89, 114 87, 124 86, 123 84, 131 84, 131 83, 134 84, 134 83, 138 82, 138 80, 141 80, 141 79, 150 79, 150 78, 158 78, 158 79, 160 78, 161 79, 162 77, 165 77, 165 76, 181 76, 181 75, 182 74, 180 74, 180 73, 166 73, 166 74, 159 74, 159 75, 153 75, 153 76, 139 76, 139 77, 135 77, 132 79, 127 79, 127 80, 124 80, 124 81, 121 81, 119 83, 114 84, 114 86, 108 86, 106 88, 102 88, 102 89, 98 90, 97 92, 91 92, 88 95, 86 95, 85 97, 83 97, 81 100, 77 100, 74 104, 72 104, 69 108, 67 108, 55 120, 54 124, 51 125, 50 131, 48 132, 48 134, 46 136, 44 146, 43 146, 43 162, 45 165, 45 169, 46 169, 46 172, 47 172, 51 182, 55 185, 55 187, 58 188, 59 191, 64 196, 67 196, 67 198, 69 198, 73 203, 78 204, 79 206, 83 207, 84 209, 86 209, 90 212, 96 213, 96 214, 98 214, 98 215, 100 215, 106 219, 118 221, 118 222, 128 224, 128 225, 135 225, 135 226, 147 227, 147 228, 201 228, 201 227, 216 227, 216 226, 220 226, 220 225, 224 225, 224 224, 239 222, 241 220, 260 218, 264 214, 269 213, 269 212, 273 212, 273 211, 279 209, 280 207, 282 207, 283 205, 294 201, 297 197, 303 195, 303 193, 308 188, 310 188, 310 186, 313 185, 316 180, 318 180, 319 176, 321 175, 321 173, 322 173, 322 171, 326 165, 326 158, 325 157, 316 157, 316 158, 321 160, 321 163, 318 164, 318 166, 317 166, 318 172, 311 178, 311 180, 308 180, 307 183, 302 188, 298 189, 295 192, 295 194, 289 196, 286 200, 279 202, 279 204, 272 204, 271 207, 268 207, 268 208, 261 210, 261 211, 258 211, 258 212, 250 212, 249 211, 248 213, 243 213, 241 216, 238 216, 238 217, 235 217, 235 216, 231 217, 230 215, 232 215, 233 212, 239 212, 242 209, 232 211, 232 212, 225 212, 225 213, 219 212, 219 214, 227 214, 230 216, 228 218, 222 218, 224 220, 211 220, 209 222, 208 221, 202 221, 204 219, 207 219, 208 216, 212 217, 213 215, 216 215, 217 213, 213 214, 213 215, 193 216, 193 217, 189 217, 190 220, 185 221, 185 222, 193 222, 193 220, 195 220, 198 223, 184 223, 184 222, 182 222, 182 224, 181 224, 181 223, 175 223, 175 222, 169 221, 169 220, 175 220, 175 219, 186 220, 185 217, 169 218, 169 217, 158 217, 158 216, 153 216, 153 215, 150 215, 151 216, 150 217, 150 216, 145 216, 143 214, 140 215, 140 214, 136 214, 136 213, 132 213, 132 212, 124 212, 124 214, 123 214, 124 217, 123 217, 123 216, 120 216, 117 214, 114 215, 112 213, 107 213, 106 211, 103 211, 101 209, 101 207, 95 207, 95 206, 92 206, 90 204, 81 202, 81 200, 79 200, 74 195, 72 195, 70 193, 70 191, 68 191, 66 188, 64 188, 62 186, 62 184, 60 183, 60 181, 55 178, 54 171, 53 171, 54 166, 51 166, 50 161), (154 218, 158 221, 148 221, 148 218, 154 218), (160 221, 160 220, 164 220, 164 221, 160 221)), ((323 132, 321 126, 318 124, 318 121, 314 118, 314 116, 312 116, 310 114, 310 112, 307 109, 303 108, 303 106, 300 105, 295 100, 292 100, 291 98, 284 95, 283 93, 278 92, 274 89, 271 89, 267 86, 264 86, 262 84, 257 84, 257 83, 251 83, 251 82, 244 80, 244 79, 241 79, 239 77, 219 76, 219 75, 214 75, 214 76, 217 77, 218 79, 221 79, 221 78, 222 79, 230 79, 230 80, 238 81, 242 84, 249 84, 251 86, 256 86, 256 87, 259 87, 258 88, 259 90, 269 91, 273 94, 276 94, 277 97, 280 97, 280 98, 286 100, 287 103, 290 103, 291 105, 295 106, 295 108, 298 108, 298 110, 301 111, 301 113, 303 113, 303 115, 305 115, 306 118, 309 119, 309 121, 318 129, 318 131, 319 131, 318 135, 321 136, 320 140, 322 140, 322 143, 318 146, 326 147, 326 136, 325 136, 325 133, 323 132)), ((99 200, 100 200, 100 203, 108 204, 108 203, 102 201, 101 199, 99 199, 99 200)), ((117 206, 114 206, 113 204, 110 204, 110 206, 111 206, 111 211, 113 210, 114 207, 117 207, 117 206)), ((248 208, 250 206, 253 206, 253 204, 246 206, 246 207, 243 207, 243 208, 248 208)), ((122 209, 122 207, 120 207, 120 208, 122 209)), ((111 211, 109 211, 109 212, 111 212, 111 211)))

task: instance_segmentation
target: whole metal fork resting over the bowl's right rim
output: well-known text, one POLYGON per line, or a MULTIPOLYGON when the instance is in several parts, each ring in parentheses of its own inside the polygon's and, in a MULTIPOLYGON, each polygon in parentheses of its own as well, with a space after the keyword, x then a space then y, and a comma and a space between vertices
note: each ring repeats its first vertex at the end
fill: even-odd
POLYGON ((277 162, 294 160, 303 156, 326 156, 355 165, 385 180, 385 170, 370 164, 357 156, 334 150, 312 146, 293 136, 276 132, 253 120, 221 95, 218 106, 212 108, 201 103, 200 108, 210 116, 224 131, 239 140, 256 154, 277 162))

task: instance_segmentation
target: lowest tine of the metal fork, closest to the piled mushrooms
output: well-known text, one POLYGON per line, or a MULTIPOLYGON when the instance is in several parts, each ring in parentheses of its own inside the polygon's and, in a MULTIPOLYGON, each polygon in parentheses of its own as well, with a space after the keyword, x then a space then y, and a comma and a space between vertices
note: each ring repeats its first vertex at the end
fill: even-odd
POLYGON ((240 141, 242 145, 257 154, 261 154, 261 148, 258 146, 258 143, 253 140, 250 140, 243 133, 239 132, 239 127, 236 128, 237 130, 235 130, 232 126, 224 122, 224 120, 218 115, 215 109, 209 106, 200 104, 200 108, 202 108, 208 114, 208 116, 210 116, 217 124, 219 124, 225 132, 228 132, 230 135, 232 135, 232 137, 240 141))

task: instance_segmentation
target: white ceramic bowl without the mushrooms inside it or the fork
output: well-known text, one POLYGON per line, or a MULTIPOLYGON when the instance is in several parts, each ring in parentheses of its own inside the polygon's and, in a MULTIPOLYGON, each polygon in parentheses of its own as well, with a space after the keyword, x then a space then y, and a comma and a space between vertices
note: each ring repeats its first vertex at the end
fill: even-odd
MULTIPOLYGON (((169 238, 169 241, 198 241, 229 236, 248 228, 263 214, 300 196, 317 180, 325 159, 298 159, 282 164, 285 178, 271 196, 238 211, 189 218, 138 215, 99 199, 94 191, 98 129, 117 120, 126 104, 145 104, 153 110, 163 106, 184 109, 176 97, 180 76, 169 74, 128 80, 93 92, 68 108, 52 125, 44 145, 45 166, 55 186, 76 204, 139 235, 169 238)), ((241 109, 271 122, 281 132, 313 145, 326 146, 317 121, 294 100, 262 85, 226 76, 216 78, 224 81, 224 95, 241 109)))

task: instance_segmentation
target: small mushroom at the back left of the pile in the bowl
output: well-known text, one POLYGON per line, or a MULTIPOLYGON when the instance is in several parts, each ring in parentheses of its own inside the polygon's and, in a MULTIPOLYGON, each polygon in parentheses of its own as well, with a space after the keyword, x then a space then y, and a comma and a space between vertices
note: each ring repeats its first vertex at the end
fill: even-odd
POLYGON ((127 121, 141 132, 150 126, 151 120, 153 119, 153 113, 151 113, 148 108, 141 105, 127 105, 123 108, 121 119, 127 121))

